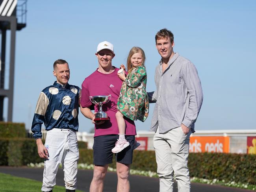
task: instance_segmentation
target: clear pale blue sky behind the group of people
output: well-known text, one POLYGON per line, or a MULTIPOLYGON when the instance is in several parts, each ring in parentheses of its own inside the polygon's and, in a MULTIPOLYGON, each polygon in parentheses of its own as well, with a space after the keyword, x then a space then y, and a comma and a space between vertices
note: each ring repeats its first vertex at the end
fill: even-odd
MULTIPOLYGON (((30 128, 39 93, 55 81, 56 59, 69 62, 69 83, 81 87, 98 66, 101 41, 114 44, 117 67, 130 48, 143 48, 147 91, 155 90, 160 55, 154 36, 167 28, 174 52, 191 60, 201 79, 204 101, 195 129, 255 129, 255 18, 254 0, 30 0, 27 27, 16 33, 13 121, 30 128)), ((137 130, 149 130, 153 108, 146 122, 136 122, 137 130)), ((79 122, 80 131, 93 127, 81 113, 79 122)))

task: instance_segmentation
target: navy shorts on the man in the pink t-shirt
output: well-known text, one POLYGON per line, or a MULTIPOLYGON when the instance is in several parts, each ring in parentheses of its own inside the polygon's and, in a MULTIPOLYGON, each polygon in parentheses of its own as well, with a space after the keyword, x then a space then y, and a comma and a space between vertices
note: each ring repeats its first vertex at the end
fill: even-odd
MULTIPOLYGON (((111 150, 115 147, 115 142, 117 142, 118 138, 119 135, 100 135, 94 137, 93 164, 106 165, 112 163, 113 153, 111 150)), ((115 153, 115 159, 122 164, 132 164, 135 136, 126 135, 125 138, 130 143, 130 146, 119 153, 115 153)))

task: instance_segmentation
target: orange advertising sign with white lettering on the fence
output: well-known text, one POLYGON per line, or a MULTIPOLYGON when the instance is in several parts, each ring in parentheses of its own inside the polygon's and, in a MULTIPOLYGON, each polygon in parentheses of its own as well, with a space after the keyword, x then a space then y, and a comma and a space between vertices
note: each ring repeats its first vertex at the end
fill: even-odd
POLYGON ((189 152, 229 152, 229 137, 190 137, 189 152))

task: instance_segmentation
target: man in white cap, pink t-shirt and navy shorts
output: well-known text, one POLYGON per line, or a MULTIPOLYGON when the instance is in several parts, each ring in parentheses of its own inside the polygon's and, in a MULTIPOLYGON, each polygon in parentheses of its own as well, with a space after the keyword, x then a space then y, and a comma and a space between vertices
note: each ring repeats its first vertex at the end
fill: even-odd
MULTIPOLYGON (((119 68, 112 66, 112 59, 115 57, 113 44, 107 41, 100 42, 95 55, 98 58, 98 68, 83 81, 80 103, 82 114, 95 124, 93 144, 93 164, 95 167, 90 192, 102 192, 108 164, 112 163, 113 159, 111 149, 115 146, 119 137, 115 114, 117 113, 117 99, 120 94, 122 80, 117 75, 119 68), (90 110, 93 103, 89 96, 108 96, 109 94, 111 94, 111 100, 102 105, 102 111, 108 114, 110 120, 95 122, 95 114, 90 110)), ((94 109, 95 112, 98 111, 96 105, 94 109)), ((116 154, 117 192, 130 191, 128 176, 132 163, 136 129, 134 121, 125 118, 125 122, 126 140, 130 143, 130 146, 116 154)))

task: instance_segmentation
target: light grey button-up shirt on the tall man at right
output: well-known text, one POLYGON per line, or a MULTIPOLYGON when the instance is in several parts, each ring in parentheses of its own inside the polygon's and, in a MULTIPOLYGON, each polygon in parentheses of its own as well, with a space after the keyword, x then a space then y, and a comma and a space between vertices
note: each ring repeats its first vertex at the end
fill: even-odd
POLYGON ((149 102, 156 102, 151 130, 165 133, 184 124, 194 132, 203 93, 195 65, 175 53, 162 72, 162 60, 156 67, 156 91, 149 92, 149 102))

